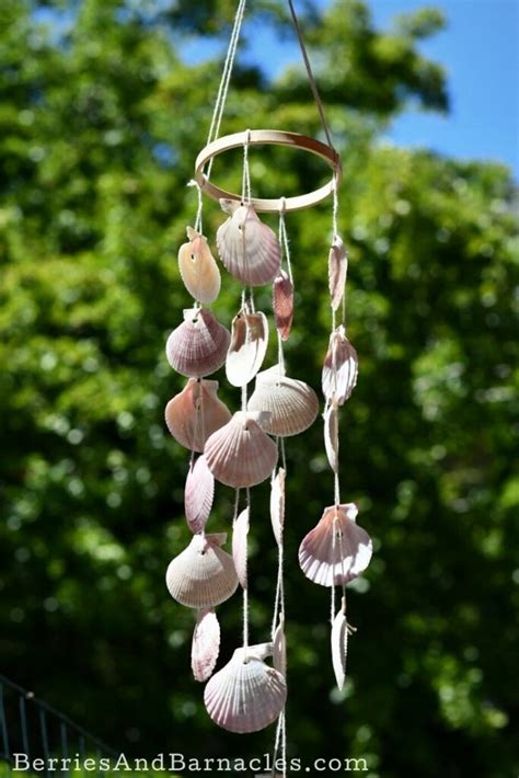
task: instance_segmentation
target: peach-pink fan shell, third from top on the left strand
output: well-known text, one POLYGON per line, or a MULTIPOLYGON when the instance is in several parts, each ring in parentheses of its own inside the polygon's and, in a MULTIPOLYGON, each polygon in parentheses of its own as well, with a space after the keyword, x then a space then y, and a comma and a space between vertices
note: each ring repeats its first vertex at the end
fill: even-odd
POLYGON ((165 423, 175 441, 191 451, 203 451, 207 438, 231 417, 217 397, 218 381, 189 378, 165 407, 165 423))

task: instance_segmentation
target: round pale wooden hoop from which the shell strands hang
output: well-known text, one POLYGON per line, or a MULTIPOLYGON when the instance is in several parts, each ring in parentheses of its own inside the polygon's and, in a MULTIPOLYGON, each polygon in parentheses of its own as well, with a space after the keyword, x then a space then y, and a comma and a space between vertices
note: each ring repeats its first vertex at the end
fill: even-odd
POLYGON ((204 168, 211 159, 229 151, 230 149, 237 149, 243 146, 265 145, 291 146, 316 155, 330 164, 333 170, 333 175, 331 181, 324 184, 324 186, 321 186, 319 190, 297 195, 296 197, 280 197, 278 199, 252 197, 251 205, 254 210, 276 214, 280 210, 285 213, 290 210, 302 210, 303 208, 310 208, 318 203, 322 203, 326 199, 326 197, 328 197, 328 195, 332 194, 335 187, 338 188, 341 181, 343 180, 343 168, 341 164, 341 157, 331 146, 321 142, 321 140, 315 140, 315 138, 309 138, 305 135, 299 135, 299 133, 288 133, 282 129, 247 129, 244 133, 224 135, 201 149, 195 162, 195 180, 201 192, 209 195, 209 197, 212 197, 212 199, 241 201, 242 198, 240 195, 233 194, 232 192, 226 192, 226 190, 222 190, 208 181, 204 173, 204 168))

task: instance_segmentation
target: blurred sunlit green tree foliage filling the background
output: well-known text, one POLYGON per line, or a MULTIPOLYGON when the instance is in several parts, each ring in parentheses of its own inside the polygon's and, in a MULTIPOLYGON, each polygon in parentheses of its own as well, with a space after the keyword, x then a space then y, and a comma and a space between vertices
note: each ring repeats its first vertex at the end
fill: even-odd
MULTIPOLYGON (((364 756, 372 777, 509 778, 519 770, 517 191, 499 164, 380 142, 410 103, 448 108, 441 68, 417 50, 443 24, 436 11, 380 32, 359 0, 303 5, 345 167, 360 378, 343 413, 343 491, 376 553, 350 587, 358 633, 339 695, 328 593, 297 562, 332 495, 316 423, 287 446, 289 753, 364 756)), ((221 68, 219 58, 188 67, 182 46, 224 41, 234 7, 3 0, 0 15, 0 667, 138 756, 257 756, 273 739, 212 725, 191 677, 193 613, 164 585, 189 537, 188 456, 163 423, 183 379, 164 343, 189 304, 176 251, 194 220, 186 182, 221 68)), ((244 46, 267 24, 281 46, 292 34, 285 3, 253 3, 244 46)), ((319 134, 302 67, 270 80, 239 64, 223 133, 270 126, 319 134)), ((282 150, 254 150, 251 162, 267 196, 305 191, 321 171, 282 150)), ((239 167, 219 160, 215 178, 237 185, 239 167)), ((205 214, 215 248, 223 215, 212 203, 205 214)), ((330 207, 287 221, 298 293, 287 362, 319 389, 330 207)), ((221 321, 238 301, 226 276, 221 321)), ((268 312, 268 289, 257 305, 268 312)), ((237 409, 224 381, 221 396, 237 409)), ((212 530, 229 529, 232 496, 218 488, 212 530)), ((254 490, 255 641, 267 638, 275 590, 267 496, 254 490)), ((240 640, 240 609, 238 595, 219 608, 220 663, 240 640)))

